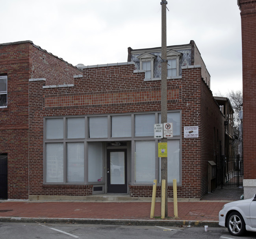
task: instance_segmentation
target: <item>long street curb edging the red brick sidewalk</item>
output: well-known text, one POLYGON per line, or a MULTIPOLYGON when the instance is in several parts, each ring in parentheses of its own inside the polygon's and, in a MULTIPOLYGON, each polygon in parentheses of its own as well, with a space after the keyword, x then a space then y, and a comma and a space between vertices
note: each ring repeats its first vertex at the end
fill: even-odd
POLYGON ((218 227, 218 221, 186 220, 136 220, 136 219, 79 219, 79 218, 36 218, 36 217, 0 217, 0 222, 40 222, 63 224, 109 224, 133 226, 205 226, 218 227))

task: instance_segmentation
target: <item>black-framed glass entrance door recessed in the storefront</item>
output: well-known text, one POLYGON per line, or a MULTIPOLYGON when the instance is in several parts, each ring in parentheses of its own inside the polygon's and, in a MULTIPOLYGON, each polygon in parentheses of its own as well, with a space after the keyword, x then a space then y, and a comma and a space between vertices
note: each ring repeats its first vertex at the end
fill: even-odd
POLYGON ((107 169, 107 192, 127 193, 127 150, 109 149, 107 169))

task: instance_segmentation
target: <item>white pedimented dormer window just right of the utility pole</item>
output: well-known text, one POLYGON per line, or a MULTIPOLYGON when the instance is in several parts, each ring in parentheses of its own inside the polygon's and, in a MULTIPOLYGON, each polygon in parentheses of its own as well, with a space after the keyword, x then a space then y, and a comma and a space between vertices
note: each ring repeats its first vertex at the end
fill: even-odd
POLYGON ((170 50, 167 52, 167 77, 179 75, 179 61, 182 53, 170 50))

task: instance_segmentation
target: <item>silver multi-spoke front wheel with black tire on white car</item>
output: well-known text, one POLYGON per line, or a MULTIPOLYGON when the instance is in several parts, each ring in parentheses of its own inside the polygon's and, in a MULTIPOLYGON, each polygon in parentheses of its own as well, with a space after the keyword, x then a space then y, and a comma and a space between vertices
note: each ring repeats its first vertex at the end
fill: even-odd
POLYGON ((227 226, 229 233, 233 236, 241 236, 245 233, 245 221, 242 215, 237 211, 230 213, 227 226))

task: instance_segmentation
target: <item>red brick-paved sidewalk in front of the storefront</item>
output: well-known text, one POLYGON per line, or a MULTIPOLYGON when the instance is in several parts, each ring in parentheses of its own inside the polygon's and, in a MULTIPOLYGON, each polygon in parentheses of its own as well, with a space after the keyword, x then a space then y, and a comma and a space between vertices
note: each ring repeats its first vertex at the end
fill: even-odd
POLYGON ((133 201, 0 201, 1 222, 60 222, 169 226, 218 226, 218 213, 229 201, 178 200, 178 218, 168 202, 168 219, 160 219, 156 202, 150 219, 151 199, 133 201))

